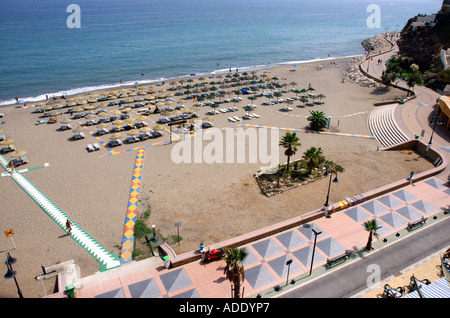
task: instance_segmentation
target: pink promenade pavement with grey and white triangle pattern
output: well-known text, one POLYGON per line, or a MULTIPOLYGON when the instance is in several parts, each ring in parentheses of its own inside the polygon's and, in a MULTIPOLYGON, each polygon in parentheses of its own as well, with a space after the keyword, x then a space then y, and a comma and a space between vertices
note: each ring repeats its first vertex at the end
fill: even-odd
MULTIPOLYGON (((436 215, 438 220, 447 217, 442 212, 449 205, 449 184, 432 177, 336 212, 331 218, 320 218, 241 246, 248 252, 244 262, 244 296, 261 294, 272 297, 274 286, 286 284, 288 271, 289 280, 307 276, 315 238, 312 229, 322 232, 317 236, 311 276, 314 277, 314 273, 318 275, 339 267, 328 268, 326 259, 345 250, 355 251, 346 263, 358 259, 356 252, 368 238, 364 222, 375 218, 382 226, 378 231, 379 240, 374 241, 374 246, 378 244, 377 249, 393 241, 390 237, 397 233, 408 235, 406 225, 410 221, 424 216, 428 217, 424 226, 430 226, 436 222, 433 216, 436 215), (388 237, 387 243, 383 243, 383 239, 388 237), (286 265, 288 260, 292 260, 289 268, 286 265)), ((223 261, 206 264, 194 261, 165 269, 159 263, 157 266, 144 266, 131 274, 117 272, 115 277, 82 287, 77 297, 229 298, 230 283, 223 274, 224 264, 223 261)))

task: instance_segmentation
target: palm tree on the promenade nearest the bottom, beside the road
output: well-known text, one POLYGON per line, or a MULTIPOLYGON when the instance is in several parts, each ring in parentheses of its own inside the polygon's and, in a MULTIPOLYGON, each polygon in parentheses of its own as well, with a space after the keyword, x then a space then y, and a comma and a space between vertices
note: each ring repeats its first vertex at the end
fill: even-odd
POLYGON ((241 283, 245 279, 243 261, 248 253, 244 249, 231 247, 225 249, 224 260, 227 265, 224 268, 224 274, 233 286, 233 297, 241 298, 241 283))

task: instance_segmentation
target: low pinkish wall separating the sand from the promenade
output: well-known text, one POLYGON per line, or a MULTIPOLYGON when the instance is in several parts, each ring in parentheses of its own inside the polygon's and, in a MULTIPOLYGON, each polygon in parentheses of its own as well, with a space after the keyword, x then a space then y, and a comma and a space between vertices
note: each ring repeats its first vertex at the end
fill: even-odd
MULTIPOLYGON (((427 146, 424 143, 422 143, 420 140, 414 139, 414 140, 405 141, 403 143, 400 143, 398 145, 395 145, 395 146, 392 146, 389 148, 384 148, 384 149, 382 149, 382 151, 409 149, 409 150, 414 150, 415 152, 417 152, 420 155, 424 156, 425 158, 429 159, 431 162, 435 162, 436 159, 442 160, 442 163, 439 166, 429 169, 427 171, 424 171, 422 173, 415 174, 413 182, 417 182, 417 181, 420 181, 420 180, 423 180, 423 179, 426 179, 431 176, 439 174, 440 172, 445 170, 445 168, 447 167, 447 164, 448 164, 447 160, 445 159, 445 156, 443 156, 439 151, 437 151, 433 148, 429 148, 428 151, 426 151, 426 148, 427 148, 427 146)), ((373 199, 380 195, 394 191, 398 188, 405 187, 405 186, 409 185, 409 182, 410 181, 408 178, 404 178, 404 179, 398 180, 396 182, 390 183, 386 186, 379 187, 377 189, 363 193, 362 195, 364 196, 365 200, 370 200, 370 199, 373 199)), ((330 213, 333 213, 333 212, 335 213, 339 210, 341 210, 341 206, 338 203, 333 203, 332 205, 329 206, 330 213)), ((231 239, 228 239, 228 240, 216 243, 216 244, 209 245, 209 246, 207 246, 207 248, 214 249, 214 248, 219 248, 219 247, 226 248, 226 247, 244 245, 244 244, 259 240, 261 238, 271 236, 278 232, 282 232, 282 231, 288 230, 290 228, 299 226, 301 224, 311 222, 311 221, 321 218, 323 216, 325 216, 325 211, 323 209, 318 209, 318 210, 308 212, 306 214, 297 216, 295 218, 288 219, 286 221, 276 223, 274 225, 271 225, 271 226, 268 226, 268 227, 265 227, 265 228, 262 228, 262 229, 259 229, 256 231, 252 231, 247 234, 243 234, 243 235, 240 235, 240 236, 237 236, 237 237, 234 237, 234 238, 231 238, 231 239)), ((170 263, 171 263, 172 267, 181 266, 186 263, 190 263, 192 261, 201 259, 201 254, 200 254, 199 250, 190 251, 190 252, 186 252, 186 253, 183 253, 180 255, 176 255, 175 251, 169 245, 167 245, 165 243, 160 245, 160 249, 164 255, 168 255, 170 257, 170 263)))

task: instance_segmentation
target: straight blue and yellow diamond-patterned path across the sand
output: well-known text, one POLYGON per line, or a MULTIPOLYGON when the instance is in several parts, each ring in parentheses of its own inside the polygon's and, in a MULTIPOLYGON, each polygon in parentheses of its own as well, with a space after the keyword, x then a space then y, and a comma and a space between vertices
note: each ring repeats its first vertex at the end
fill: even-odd
POLYGON ((130 196, 128 199, 127 213, 125 216, 125 226, 123 229, 122 252, 120 255, 120 263, 128 263, 132 261, 132 253, 134 247, 134 226, 138 215, 139 193, 141 190, 142 168, 144 165, 145 148, 138 149, 136 161, 133 169, 133 177, 131 179, 130 196))

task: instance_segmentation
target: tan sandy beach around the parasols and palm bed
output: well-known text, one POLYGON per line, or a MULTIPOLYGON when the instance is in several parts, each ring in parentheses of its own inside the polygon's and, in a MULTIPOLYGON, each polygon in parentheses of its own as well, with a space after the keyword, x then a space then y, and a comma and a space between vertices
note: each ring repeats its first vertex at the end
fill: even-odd
MULTIPOLYGON (((296 101, 290 106, 293 111, 282 112, 280 108, 285 104, 263 106, 261 104, 266 99, 260 97, 254 101, 257 105, 254 113, 260 117, 240 123, 306 128, 309 111, 320 110, 326 116, 332 116, 331 131, 370 135, 367 118, 375 108, 374 103, 403 97, 406 93, 392 88, 380 92, 375 87, 343 82, 342 75, 352 61, 352 58, 348 58, 299 64, 295 68, 287 65, 257 70, 259 77, 262 74, 277 76, 280 83, 296 82, 299 89, 311 84, 316 94, 326 95, 325 103, 313 107, 298 107, 302 103, 296 101)), ((193 79, 194 83, 198 81, 195 77, 193 79)), ((169 87, 166 82, 164 86, 155 89, 169 87)), ((88 96, 89 94, 84 94, 76 98, 88 96)), ((282 98, 289 96, 295 94, 285 93, 282 98)), ((244 115, 243 106, 252 103, 246 95, 241 97, 242 101, 236 105, 239 110, 231 113, 233 116, 244 115)), ((175 97, 176 104, 181 98, 183 96, 175 97)), ((188 100, 183 104, 191 107, 192 103, 192 100, 188 100)), ((222 105, 219 108, 233 106, 232 103, 222 105)), ((117 108, 119 107, 105 107, 108 111, 117 108)), ((85 139, 73 141, 73 132, 59 131, 59 123, 36 125, 41 114, 34 113, 34 110, 33 105, 28 105, 27 108, 12 105, 0 110, 6 121, 0 128, 6 137, 15 140, 14 145, 18 150, 27 151, 28 166, 49 164, 46 168, 28 171, 24 175, 103 247, 120 254, 136 151, 108 156, 109 151, 102 147, 97 152, 89 153, 86 145, 97 142, 94 136, 86 133, 85 139)), ((210 110, 208 106, 201 107, 200 118, 210 110)), ((136 116, 135 112, 136 109, 132 109, 131 115, 136 116)), ((227 120, 229 116, 229 113, 215 115, 215 128, 236 125, 227 120)), ((161 116, 152 114, 149 121, 156 121, 159 117, 161 116)), ((84 119, 80 121, 85 122, 84 119)), ((78 126, 76 120, 72 122, 72 126, 78 126)), ((280 137, 284 134, 285 131, 281 130, 280 137)), ((100 138, 107 141, 107 136, 100 138)), ((321 147, 327 159, 345 168, 345 172, 339 175, 340 183, 332 187, 330 202, 405 178, 411 170, 419 173, 432 167, 431 163, 416 154, 377 151, 377 147, 381 145, 374 139, 312 133, 298 133, 298 136, 301 147, 293 160, 300 159, 303 152, 312 146, 321 147)), ((154 142, 168 138, 166 131, 163 137, 154 142)), ((148 144, 148 141, 124 144, 114 148, 114 151, 148 144)), ((174 223, 182 222, 180 235, 183 240, 180 246, 172 246, 176 253, 196 249, 201 240, 206 244, 217 243, 321 208, 324 204, 328 185, 325 179, 266 197, 254 178, 254 174, 261 168, 260 164, 174 164, 171 151, 175 144, 145 148, 140 190, 141 202, 145 204, 139 206, 139 211, 142 213, 147 203, 151 205, 147 223, 149 226, 155 224, 164 237, 175 235, 177 229, 174 223)), ((286 161, 283 152, 280 149, 280 162, 286 161)), ((11 158, 10 154, 5 157, 8 160, 11 158)), ((0 188, 0 224, 2 230, 14 229, 13 240, 16 246, 14 249, 11 239, 2 235, 0 253, 5 257, 6 252, 10 252, 17 258, 14 269, 18 273, 17 280, 25 297, 43 296, 41 283, 34 279, 41 273, 41 265, 50 266, 73 259, 80 266, 83 277, 99 270, 94 258, 66 235, 11 178, 0 178, 0 188)), ((47 293, 52 293, 50 281, 45 282, 45 288, 47 293)), ((16 295, 12 280, 0 280, 0 297, 16 295)))

